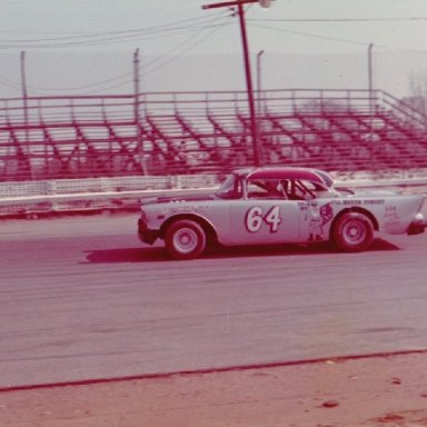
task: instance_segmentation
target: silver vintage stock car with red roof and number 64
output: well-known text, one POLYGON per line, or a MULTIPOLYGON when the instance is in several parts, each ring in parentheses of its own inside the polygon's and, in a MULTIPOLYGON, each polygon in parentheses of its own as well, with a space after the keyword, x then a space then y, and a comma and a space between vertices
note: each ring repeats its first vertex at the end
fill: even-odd
POLYGON ((222 246, 330 241, 344 251, 368 249, 374 232, 417 235, 425 196, 351 191, 310 168, 237 170, 211 193, 141 200, 138 235, 165 240, 177 259, 222 246))

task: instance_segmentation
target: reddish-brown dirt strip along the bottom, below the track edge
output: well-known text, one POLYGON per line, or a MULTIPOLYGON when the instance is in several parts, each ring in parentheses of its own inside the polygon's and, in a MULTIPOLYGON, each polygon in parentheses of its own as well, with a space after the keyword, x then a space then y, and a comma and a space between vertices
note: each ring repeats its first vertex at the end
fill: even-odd
POLYGON ((427 426, 427 354, 0 394, 1 427, 427 426))

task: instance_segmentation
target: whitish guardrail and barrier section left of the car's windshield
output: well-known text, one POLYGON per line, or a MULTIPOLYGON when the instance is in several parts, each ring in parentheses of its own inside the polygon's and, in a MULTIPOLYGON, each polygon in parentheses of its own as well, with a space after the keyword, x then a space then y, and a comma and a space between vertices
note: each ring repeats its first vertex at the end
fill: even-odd
POLYGON ((214 175, 187 175, 0 182, 0 218, 137 209, 141 197, 199 192, 217 186, 218 179, 214 175))

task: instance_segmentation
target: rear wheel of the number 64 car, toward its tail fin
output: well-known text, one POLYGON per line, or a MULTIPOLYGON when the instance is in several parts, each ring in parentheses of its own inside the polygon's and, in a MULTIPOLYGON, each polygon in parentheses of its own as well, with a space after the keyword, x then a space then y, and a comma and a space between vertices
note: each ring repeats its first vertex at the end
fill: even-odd
POLYGON ((337 220, 331 237, 337 247, 346 252, 366 250, 374 240, 374 226, 366 215, 348 212, 337 220))

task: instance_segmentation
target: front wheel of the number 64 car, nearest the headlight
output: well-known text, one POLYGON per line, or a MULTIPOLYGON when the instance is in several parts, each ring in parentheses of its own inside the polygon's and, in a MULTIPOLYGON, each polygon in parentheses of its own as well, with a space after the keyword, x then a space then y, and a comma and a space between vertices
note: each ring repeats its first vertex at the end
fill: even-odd
POLYGON ((176 259, 197 258, 206 247, 206 234, 195 221, 171 224, 165 236, 166 249, 176 259))

